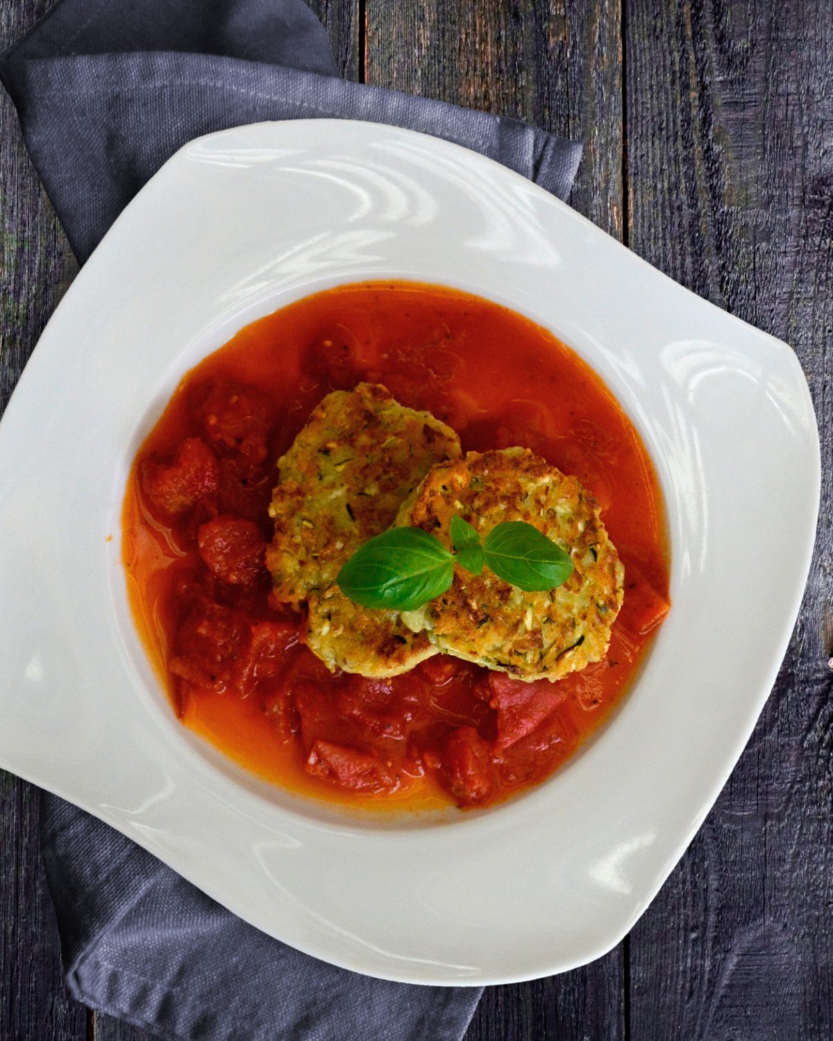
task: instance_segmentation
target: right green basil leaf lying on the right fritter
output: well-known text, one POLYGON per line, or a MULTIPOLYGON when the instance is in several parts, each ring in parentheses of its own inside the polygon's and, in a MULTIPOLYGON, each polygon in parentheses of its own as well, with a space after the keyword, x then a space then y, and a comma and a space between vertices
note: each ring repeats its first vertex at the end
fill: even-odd
POLYGON ((570 554, 524 520, 506 520, 493 528, 483 552, 499 578, 526 592, 554 589, 573 574, 570 554))

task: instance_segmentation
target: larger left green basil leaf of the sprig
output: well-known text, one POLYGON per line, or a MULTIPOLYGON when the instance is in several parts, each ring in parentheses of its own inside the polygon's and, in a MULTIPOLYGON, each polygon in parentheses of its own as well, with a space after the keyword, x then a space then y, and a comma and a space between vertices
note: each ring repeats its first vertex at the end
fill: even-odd
POLYGON ((338 588, 362 607, 415 611, 454 578, 454 556, 422 528, 390 528, 359 547, 338 572, 338 588))

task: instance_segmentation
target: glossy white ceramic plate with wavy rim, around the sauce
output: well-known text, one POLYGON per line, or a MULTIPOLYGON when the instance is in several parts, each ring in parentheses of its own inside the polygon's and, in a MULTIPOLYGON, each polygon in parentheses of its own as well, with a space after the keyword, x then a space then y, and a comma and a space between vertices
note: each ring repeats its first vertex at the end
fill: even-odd
POLYGON ((522 177, 372 124, 212 134, 116 222, 0 424, 0 765, 338 965, 443 984, 572 968, 642 913, 739 756, 798 611, 818 483, 789 348, 522 177), (256 318, 377 277, 548 326, 633 418, 668 511, 674 608, 621 711, 530 794, 438 822, 304 802, 186 732, 120 563, 129 461, 181 374, 256 318))

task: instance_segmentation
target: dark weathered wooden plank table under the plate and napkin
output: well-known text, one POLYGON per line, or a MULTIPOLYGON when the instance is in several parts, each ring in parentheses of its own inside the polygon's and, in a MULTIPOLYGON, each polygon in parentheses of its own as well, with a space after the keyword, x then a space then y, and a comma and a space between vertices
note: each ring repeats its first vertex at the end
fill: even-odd
MULTIPOLYGON (((0 46, 49 5, 0 0, 0 46)), ((623 943, 574 972, 488 989, 468 1039, 829 1041, 833 3, 311 5, 346 77, 583 139, 573 206, 695 293, 791 344, 822 429, 808 591, 775 690, 716 806, 623 943)), ((5 95, 0 222, 4 405, 77 270, 5 95)), ((67 996, 37 853, 37 795, 2 773, 0 920, 0 1041, 146 1037, 67 996)))

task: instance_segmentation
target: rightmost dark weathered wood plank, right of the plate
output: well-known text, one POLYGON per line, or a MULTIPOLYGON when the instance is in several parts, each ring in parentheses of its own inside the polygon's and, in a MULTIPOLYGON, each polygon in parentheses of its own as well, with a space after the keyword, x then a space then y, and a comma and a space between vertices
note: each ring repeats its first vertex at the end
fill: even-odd
POLYGON ((626 10, 630 246, 794 347, 827 475, 813 570, 773 696, 631 934, 629 1030, 646 1041, 829 1038, 833 8, 627 0, 626 10))

